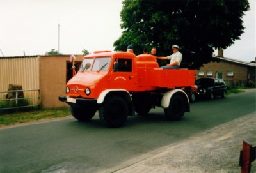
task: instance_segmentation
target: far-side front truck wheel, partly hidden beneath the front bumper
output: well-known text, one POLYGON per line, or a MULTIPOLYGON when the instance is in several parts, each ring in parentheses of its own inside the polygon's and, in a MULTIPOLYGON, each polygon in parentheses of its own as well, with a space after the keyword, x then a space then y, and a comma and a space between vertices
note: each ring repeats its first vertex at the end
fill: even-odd
POLYGON ((70 112, 78 121, 90 121, 95 115, 96 109, 82 109, 77 107, 70 107, 70 112))

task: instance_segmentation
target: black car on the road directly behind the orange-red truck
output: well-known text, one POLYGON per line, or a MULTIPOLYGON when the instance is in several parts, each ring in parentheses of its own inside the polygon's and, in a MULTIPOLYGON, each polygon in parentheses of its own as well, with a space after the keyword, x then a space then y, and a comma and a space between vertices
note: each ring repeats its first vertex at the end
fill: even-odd
POLYGON ((211 100, 216 96, 221 96, 221 98, 226 96, 227 86, 222 79, 202 77, 197 79, 195 84, 198 86, 196 96, 207 97, 211 100))

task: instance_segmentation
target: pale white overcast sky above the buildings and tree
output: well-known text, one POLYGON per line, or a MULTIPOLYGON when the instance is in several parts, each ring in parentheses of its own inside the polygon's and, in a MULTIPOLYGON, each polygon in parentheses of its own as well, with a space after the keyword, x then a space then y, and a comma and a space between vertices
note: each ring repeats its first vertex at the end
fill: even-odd
MULTIPOLYGON (((224 50, 224 57, 255 60, 256 3, 249 3, 244 33, 224 50)), ((0 56, 114 50, 122 34, 121 10, 122 0, 0 0, 0 56)))

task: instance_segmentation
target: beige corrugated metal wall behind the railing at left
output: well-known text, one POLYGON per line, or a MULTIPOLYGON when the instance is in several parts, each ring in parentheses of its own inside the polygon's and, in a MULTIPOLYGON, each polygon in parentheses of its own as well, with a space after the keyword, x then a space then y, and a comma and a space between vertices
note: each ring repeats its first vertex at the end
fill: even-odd
MULTIPOLYGON (((40 89, 39 57, 1 57, 0 91, 7 91, 9 84, 21 85, 23 89, 40 89)), ((24 92, 24 96, 36 97, 38 96, 38 91, 24 92)))

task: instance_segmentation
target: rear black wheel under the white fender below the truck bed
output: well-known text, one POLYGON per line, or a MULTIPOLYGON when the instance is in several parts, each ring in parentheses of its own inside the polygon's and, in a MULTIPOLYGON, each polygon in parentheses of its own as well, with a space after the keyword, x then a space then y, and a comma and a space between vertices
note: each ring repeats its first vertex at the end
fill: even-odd
POLYGON ((170 100, 169 107, 164 109, 166 119, 180 120, 184 116, 186 100, 180 94, 175 94, 170 100))

